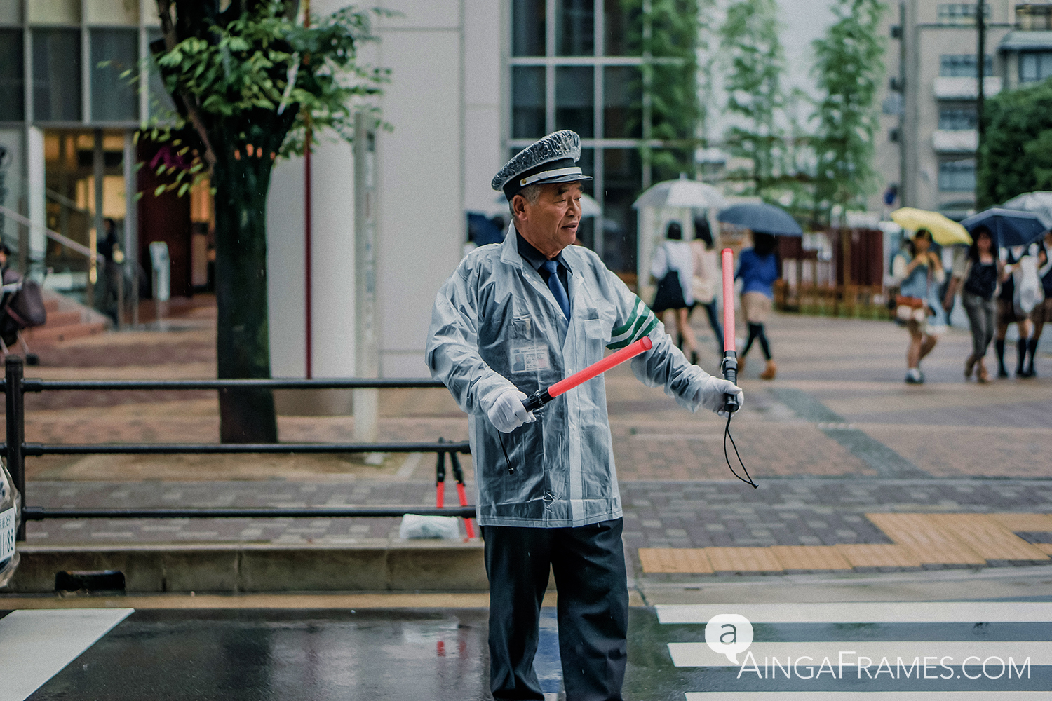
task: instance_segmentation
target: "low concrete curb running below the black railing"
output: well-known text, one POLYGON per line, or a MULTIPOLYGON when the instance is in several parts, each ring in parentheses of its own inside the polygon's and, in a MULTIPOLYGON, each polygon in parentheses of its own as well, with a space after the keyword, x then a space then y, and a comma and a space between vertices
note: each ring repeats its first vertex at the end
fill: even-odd
POLYGON ((143 543, 21 545, 4 590, 55 591, 55 574, 119 570, 128 593, 485 592, 481 541, 368 545, 143 543))

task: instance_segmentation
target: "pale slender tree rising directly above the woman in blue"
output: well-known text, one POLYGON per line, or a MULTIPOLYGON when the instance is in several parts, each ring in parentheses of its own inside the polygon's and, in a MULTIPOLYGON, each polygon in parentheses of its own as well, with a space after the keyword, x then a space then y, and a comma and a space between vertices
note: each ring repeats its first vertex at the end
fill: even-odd
POLYGON ((749 191, 769 195, 782 176, 785 141, 776 115, 784 106, 785 56, 778 39, 775 0, 734 0, 720 27, 720 51, 727 64, 727 114, 734 124, 724 135, 732 156, 749 159, 749 191))

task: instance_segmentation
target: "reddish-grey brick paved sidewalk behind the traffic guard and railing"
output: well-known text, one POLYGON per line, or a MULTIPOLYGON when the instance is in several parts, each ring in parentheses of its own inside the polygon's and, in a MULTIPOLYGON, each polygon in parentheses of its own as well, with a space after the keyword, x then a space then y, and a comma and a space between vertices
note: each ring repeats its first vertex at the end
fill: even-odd
MULTIPOLYGON (((202 314, 168 333, 105 335, 42 352, 45 377, 199 377, 215 373, 214 330, 202 314), (165 351, 165 345, 177 349, 165 351), (116 350, 115 350, 116 349, 116 350), (129 363, 138 365, 129 365, 129 363)), ((702 365, 716 367, 699 328, 702 365)), ((639 549, 756 549, 892 544, 867 514, 1052 513, 1052 359, 1039 377, 965 383, 966 332, 951 330, 926 360, 929 383, 903 384, 906 336, 893 324, 775 315, 769 335, 778 378, 758 380, 758 356, 743 375, 746 406, 731 432, 761 489, 733 481, 724 422, 679 409, 626 368, 609 373, 611 432, 626 512, 625 541, 639 549), (995 480, 985 478, 996 478, 995 480)), ((1046 345, 1047 347, 1047 345, 1046 345)), ((381 439, 463 439, 466 418, 442 390, 384 392, 381 439)), ((57 394, 29 397, 31 441, 218 439, 209 393, 57 394)), ((351 417, 279 417, 283 440, 335 441, 351 417)), ((464 460, 470 480, 470 459, 464 460)), ((430 504, 433 456, 88 456, 31 458, 36 506, 430 504)), ((454 503, 456 492, 447 491, 454 503)), ((1035 521, 1037 522, 1037 521, 1035 521)), ((1044 521, 1040 521, 1044 523, 1044 521)), ((45 521, 29 541, 162 542, 258 540, 353 544, 397 536, 398 519, 208 519, 45 521)), ((1044 527, 1043 527, 1044 528, 1044 527)), ((1048 543, 1050 531, 1018 532, 1048 543)), ((750 551, 751 552, 751 551, 750 551)), ((708 560, 707 560, 708 561, 708 560)), ((925 566, 933 566, 926 564, 925 566)))

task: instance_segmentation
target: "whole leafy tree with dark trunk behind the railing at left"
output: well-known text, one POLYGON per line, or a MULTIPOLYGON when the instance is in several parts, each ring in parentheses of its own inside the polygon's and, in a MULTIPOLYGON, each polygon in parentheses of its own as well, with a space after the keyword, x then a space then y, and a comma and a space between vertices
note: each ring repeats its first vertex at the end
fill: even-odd
MULTIPOLYGON (((357 61, 360 44, 372 39, 369 15, 344 8, 308 26, 295 0, 157 4, 163 39, 151 48, 181 119, 148 136, 197 157, 188 167, 167 166, 167 187, 185 192, 207 174, 214 188, 218 374, 269 377, 270 172, 278 158, 303 152, 311 129, 350 141, 356 99, 384 80, 357 61)), ((276 441, 270 392, 221 392, 220 434, 224 442, 276 441)))

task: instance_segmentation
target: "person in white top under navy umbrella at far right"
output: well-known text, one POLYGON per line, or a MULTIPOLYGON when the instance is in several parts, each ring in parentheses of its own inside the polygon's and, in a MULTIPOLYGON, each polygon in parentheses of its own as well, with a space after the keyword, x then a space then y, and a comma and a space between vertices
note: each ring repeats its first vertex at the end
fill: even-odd
MULTIPOLYGON (((973 214, 964 220, 960 225, 970 231, 976 231, 980 226, 986 227, 1002 249, 1003 268, 1000 293, 997 295, 997 330, 994 341, 994 349, 997 353, 997 376, 1008 377, 1008 368, 1005 366, 1005 339, 1008 335, 1008 327, 1011 324, 1016 324, 1019 337, 1015 344, 1015 376, 1028 377, 1030 375, 1027 374, 1027 356, 1031 354, 1031 339, 1034 330, 1030 314, 1036 306, 1036 294, 1040 291, 1040 287, 1035 280, 1030 280, 1032 275, 1024 275, 1024 272, 1030 268, 1036 268, 1037 251, 1034 251, 1034 260, 1024 261, 1024 259, 1027 256, 1030 244, 1041 238, 1047 226, 1041 217, 1035 212, 1002 207, 993 207, 973 214), (1030 289, 1035 284, 1036 288, 1030 289), (1024 289, 1032 292, 1033 295, 1020 294, 1024 289)), ((1034 351, 1036 351, 1036 347, 1037 345, 1033 344, 1034 351)), ((1032 367, 1033 360, 1031 359, 1030 369, 1032 367)))

